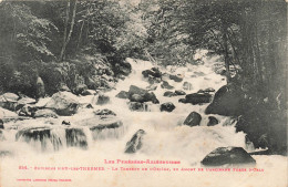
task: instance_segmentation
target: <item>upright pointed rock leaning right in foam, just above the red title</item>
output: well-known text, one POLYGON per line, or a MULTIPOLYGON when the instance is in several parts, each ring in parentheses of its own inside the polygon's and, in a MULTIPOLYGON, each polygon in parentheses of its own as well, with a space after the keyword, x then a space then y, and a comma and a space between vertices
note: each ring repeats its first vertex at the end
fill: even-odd
POLYGON ((126 143, 125 153, 133 154, 141 149, 143 143, 143 136, 145 135, 145 131, 138 129, 132 138, 126 143))

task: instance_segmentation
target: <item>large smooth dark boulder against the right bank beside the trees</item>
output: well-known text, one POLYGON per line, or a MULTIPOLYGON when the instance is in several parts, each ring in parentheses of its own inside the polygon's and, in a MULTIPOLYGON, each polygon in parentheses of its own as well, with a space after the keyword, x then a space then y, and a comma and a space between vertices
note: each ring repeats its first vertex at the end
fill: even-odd
POLYGON ((238 116, 241 114, 245 105, 245 97, 239 89, 224 85, 214 96, 208 105, 206 114, 219 114, 225 116, 238 116))

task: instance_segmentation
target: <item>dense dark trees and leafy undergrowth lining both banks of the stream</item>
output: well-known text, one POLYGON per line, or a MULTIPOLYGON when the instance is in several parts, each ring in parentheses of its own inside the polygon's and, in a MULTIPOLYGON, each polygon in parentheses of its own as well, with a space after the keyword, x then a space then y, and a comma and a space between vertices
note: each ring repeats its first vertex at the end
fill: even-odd
POLYGON ((185 65, 206 49, 246 98, 238 129, 257 147, 287 147, 284 0, 2 1, 0 18, 1 92, 34 96, 38 76, 49 94, 111 87, 103 75, 127 74, 127 56, 185 65))

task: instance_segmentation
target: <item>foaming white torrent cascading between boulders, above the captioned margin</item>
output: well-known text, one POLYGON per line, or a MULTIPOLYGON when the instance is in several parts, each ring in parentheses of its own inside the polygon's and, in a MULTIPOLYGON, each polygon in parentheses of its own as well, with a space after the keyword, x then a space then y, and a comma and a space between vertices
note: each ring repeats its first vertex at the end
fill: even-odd
MULTIPOLYGON (((133 103, 128 100, 117 98, 115 95, 121 91, 128 91, 131 85, 142 89, 151 86, 147 80, 142 75, 142 71, 150 70, 154 65, 148 61, 127 59, 132 66, 132 73, 125 79, 119 81, 116 89, 105 93, 110 97, 110 103, 100 106, 95 105, 95 96, 80 97, 81 103, 90 103, 94 110, 109 108, 116 114, 117 120, 110 121, 111 116, 95 117, 93 108, 80 111, 74 116, 59 117, 54 122, 47 120, 30 120, 29 122, 19 122, 18 129, 3 131, 3 142, 25 143, 40 153, 69 152, 71 148, 86 149, 93 152, 96 147, 109 144, 109 147, 115 149, 115 154, 124 154, 123 149, 126 142, 138 129, 146 132, 143 139, 143 147, 140 154, 150 156, 169 156, 187 162, 199 162, 199 159, 218 146, 241 146, 247 150, 253 149, 253 145, 245 144, 245 134, 236 133, 229 117, 214 115, 219 124, 207 126, 208 115, 204 113, 207 104, 192 105, 179 103, 179 98, 185 95, 164 96, 166 89, 161 83, 154 83, 160 104, 152 102, 133 103), (172 102, 175 110, 171 113, 161 112, 160 105, 165 102, 172 102), (199 126, 188 127, 183 122, 191 112, 197 112, 202 115, 199 126), (63 120, 71 122, 71 126, 60 125, 63 120), (79 122, 78 122, 79 121, 79 122), (31 123, 31 124, 30 124, 31 123), (13 132, 13 133, 12 133, 13 132), (14 139, 11 135, 13 134, 14 139), (112 144, 113 143, 113 144, 112 144), (122 147, 122 150, 121 150, 122 147), (161 147, 161 148, 160 148, 161 147)), ((225 84, 222 75, 214 73, 212 64, 187 65, 186 67, 161 67, 162 73, 181 74, 182 82, 166 81, 176 90, 184 90, 186 94, 196 93, 198 90, 213 87, 219 89, 225 84)), ((115 118, 115 117, 114 117, 115 118)), ((10 123, 13 124, 12 122, 10 123)), ((13 124, 14 125, 14 124, 13 124)), ((103 148, 105 152, 106 148, 103 148)))

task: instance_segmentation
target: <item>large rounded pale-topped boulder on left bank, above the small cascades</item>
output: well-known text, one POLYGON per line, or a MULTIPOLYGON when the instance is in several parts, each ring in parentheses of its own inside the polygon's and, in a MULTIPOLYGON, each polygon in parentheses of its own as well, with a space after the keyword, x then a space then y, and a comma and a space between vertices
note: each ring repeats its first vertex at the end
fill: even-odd
POLYGON ((73 115, 78 112, 80 104, 78 97, 70 92, 58 92, 52 95, 51 100, 45 104, 47 108, 56 112, 58 115, 73 115))

